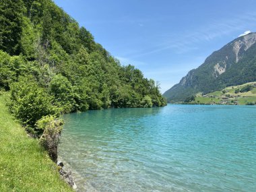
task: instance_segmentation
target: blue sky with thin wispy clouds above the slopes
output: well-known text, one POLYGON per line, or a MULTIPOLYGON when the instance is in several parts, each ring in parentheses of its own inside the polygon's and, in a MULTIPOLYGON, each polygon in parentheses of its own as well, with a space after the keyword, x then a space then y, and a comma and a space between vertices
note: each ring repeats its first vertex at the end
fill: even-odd
POLYGON ((54 0, 164 93, 213 51, 256 30, 254 0, 54 0))

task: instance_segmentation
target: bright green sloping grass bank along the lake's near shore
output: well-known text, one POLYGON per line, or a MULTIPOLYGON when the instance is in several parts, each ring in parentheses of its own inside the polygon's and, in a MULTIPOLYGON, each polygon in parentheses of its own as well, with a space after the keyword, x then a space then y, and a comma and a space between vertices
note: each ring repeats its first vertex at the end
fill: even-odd
POLYGON ((0 191, 73 191, 36 139, 28 137, 0 92, 0 191))

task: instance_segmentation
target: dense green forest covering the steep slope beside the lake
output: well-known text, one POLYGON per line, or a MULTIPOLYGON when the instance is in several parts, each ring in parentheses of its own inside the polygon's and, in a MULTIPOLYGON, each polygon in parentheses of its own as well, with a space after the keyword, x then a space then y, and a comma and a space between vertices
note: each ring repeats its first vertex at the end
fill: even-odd
POLYGON ((29 129, 47 115, 166 105, 154 80, 122 66, 51 0, 1 0, 0 88, 29 129))

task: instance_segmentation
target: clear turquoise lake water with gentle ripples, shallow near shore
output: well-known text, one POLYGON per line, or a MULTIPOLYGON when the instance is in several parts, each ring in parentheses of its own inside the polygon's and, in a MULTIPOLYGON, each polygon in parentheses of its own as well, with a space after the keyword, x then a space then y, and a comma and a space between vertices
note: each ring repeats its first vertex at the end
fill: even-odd
POLYGON ((256 107, 168 105, 65 115, 80 191, 256 191, 256 107))

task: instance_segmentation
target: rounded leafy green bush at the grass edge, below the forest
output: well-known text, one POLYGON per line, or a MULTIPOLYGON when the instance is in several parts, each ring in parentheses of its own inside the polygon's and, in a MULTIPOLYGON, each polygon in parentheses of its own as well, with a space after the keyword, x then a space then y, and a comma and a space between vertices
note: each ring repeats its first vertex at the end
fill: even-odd
MULTIPOLYGON (((18 82, 11 84, 11 102, 9 107, 23 125, 34 129, 36 121, 46 115, 57 114, 53 106, 53 97, 44 88, 36 84, 34 77, 20 77, 18 82)), ((40 131, 39 131, 40 132, 40 131)))

